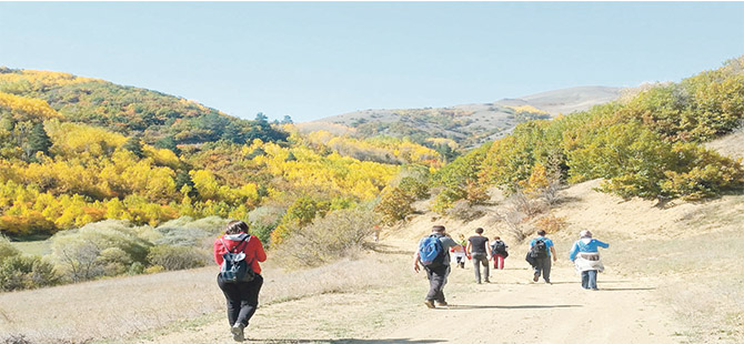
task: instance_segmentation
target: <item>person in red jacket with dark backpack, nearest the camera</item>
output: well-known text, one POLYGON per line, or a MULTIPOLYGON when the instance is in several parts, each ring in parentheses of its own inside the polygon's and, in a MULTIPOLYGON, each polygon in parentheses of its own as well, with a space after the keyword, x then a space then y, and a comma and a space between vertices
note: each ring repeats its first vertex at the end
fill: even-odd
MULTIPOLYGON (((214 262, 222 266, 225 253, 244 253, 244 261, 254 272, 250 282, 231 282, 223 277, 222 272, 217 275, 217 284, 222 290, 228 302, 228 321, 230 333, 235 342, 245 340, 243 330, 259 306, 259 292, 263 285, 261 266, 259 262, 265 262, 267 253, 263 251, 261 241, 248 234, 248 224, 243 221, 228 223, 224 235, 214 240, 214 262)), ((250 274, 250 273, 249 273, 250 274)))

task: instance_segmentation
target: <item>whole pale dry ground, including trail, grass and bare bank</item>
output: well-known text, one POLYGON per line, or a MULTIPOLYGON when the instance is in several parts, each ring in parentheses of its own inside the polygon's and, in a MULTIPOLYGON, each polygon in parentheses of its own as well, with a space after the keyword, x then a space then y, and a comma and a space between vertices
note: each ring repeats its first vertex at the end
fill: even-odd
MULTIPOLYGON (((744 280, 731 272, 736 271, 744 251, 732 240, 742 239, 737 225, 744 221, 744 195, 660 209, 653 202, 623 202, 599 193, 592 190, 596 184, 592 181, 561 191, 564 202, 556 212, 566 217, 569 226, 551 234, 560 254, 553 285, 530 282, 522 261, 525 244, 515 242, 504 223, 489 215, 462 222, 425 213, 385 231, 376 253, 355 261, 286 272, 274 264, 277 255, 270 255, 262 306, 249 337, 257 343, 462 338, 487 343, 493 328, 470 321, 475 316, 497 323, 501 337, 509 343, 564 342, 583 328, 585 323, 580 320, 591 313, 594 331, 581 343, 736 343, 744 318, 744 280), (410 271, 410 257, 415 241, 432 224, 445 224, 453 235, 471 235, 475 226, 484 226, 489 236, 501 235, 512 253, 506 270, 495 272, 494 283, 484 285, 473 283, 472 266, 455 270, 445 289, 452 306, 426 310, 421 299, 428 284, 410 271), (602 252, 607 271, 600 275, 597 293, 580 289, 565 257, 582 227, 592 229, 596 237, 611 244, 602 252), (733 250, 721 251, 722 245, 733 250), (430 318, 438 321, 436 328, 426 326, 430 318), (535 321, 544 324, 543 330, 526 331, 525 322, 535 321)), ((0 294, 0 328, 4 331, 0 337, 22 333, 47 341, 227 343, 223 300, 213 281, 215 269, 0 294), (172 287, 162 289, 163 283, 172 287), (119 295, 113 303, 115 314, 108 312, 111 292, 119 295), (83 308, 70 302, 83 299, 83 308), (39 328, 38 317, 28 310, 42 305, 49 308, 49 326, 39 328)))

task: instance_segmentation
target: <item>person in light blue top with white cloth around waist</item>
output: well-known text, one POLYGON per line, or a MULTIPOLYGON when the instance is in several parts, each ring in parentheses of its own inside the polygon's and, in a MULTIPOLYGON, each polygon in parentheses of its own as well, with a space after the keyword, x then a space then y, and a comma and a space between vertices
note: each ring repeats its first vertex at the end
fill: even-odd
POLYGON ((571 247, 569 259, 576 266, 576 272, 581 272, 581 286, 585 290, 599 290, 596 274, 604 271, 599 247, 607 249, 610 244, 592 239, 592 232, 587 230, 579 233, 579 240, 571 247))

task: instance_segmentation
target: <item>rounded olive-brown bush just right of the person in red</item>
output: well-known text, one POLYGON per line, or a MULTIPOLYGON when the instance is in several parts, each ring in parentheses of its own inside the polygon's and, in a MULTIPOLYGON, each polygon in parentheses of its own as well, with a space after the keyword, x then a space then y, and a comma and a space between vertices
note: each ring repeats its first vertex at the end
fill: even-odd
POLYGON ((288 266, 318 266, 353 257, 374 232, 378 215, 369 210, 339 210, 294 232, 277 256, 288 266))

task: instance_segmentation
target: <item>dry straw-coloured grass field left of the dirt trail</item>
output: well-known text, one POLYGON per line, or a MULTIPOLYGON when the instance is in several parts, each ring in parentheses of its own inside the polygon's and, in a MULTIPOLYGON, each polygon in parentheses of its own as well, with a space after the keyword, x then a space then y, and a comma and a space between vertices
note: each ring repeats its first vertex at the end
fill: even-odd
MULTIPOLYGON (((382 287, 398 277, 398 270, 368 257, 295 272, 268 264, 263 274, 261 302, 270 305, 382 287)), ((0 338, 22 334, 31 343, 118 343, 155 328, 194 326, 223 313, 215 277, 217 266, 210 266, 3 293, 0 338)))

